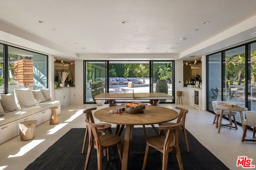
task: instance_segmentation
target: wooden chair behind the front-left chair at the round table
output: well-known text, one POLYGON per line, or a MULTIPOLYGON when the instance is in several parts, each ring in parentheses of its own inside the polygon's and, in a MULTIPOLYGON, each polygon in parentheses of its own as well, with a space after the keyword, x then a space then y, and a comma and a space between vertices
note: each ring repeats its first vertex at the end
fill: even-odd
MULTIPOLYGON (((94 123, 94 119, 93 119, 93 116, 92 116, 92 110, 96 110, 96 109, 97 109, 97 107, 93 107, 93 108, 90 108, 90 109, 84 109, 83 112, 85 113, 85 120, 88 120, 91 123, 94 123)), ((101 132, 102 135, 106 134, 106 130, 108 130, 109 134, 112 134, 111 124, 104 123, 104 127, 99 127, 98 128, 98 132, 101 132)), ((88 135, 88 128, 86 127, 85 135, 84 135, 84 143, 83 143, 83 147, 82 147, 82 154, 84 153, 84 147, 85 147, 87 135, 88 135)), ((105 151, 104 151, 104 156, 106 156, 105 151)))

